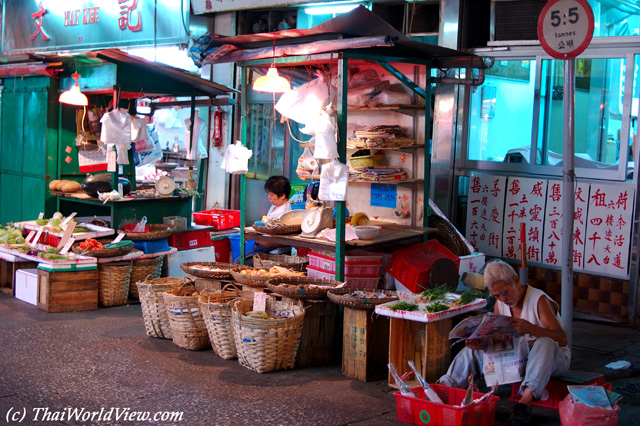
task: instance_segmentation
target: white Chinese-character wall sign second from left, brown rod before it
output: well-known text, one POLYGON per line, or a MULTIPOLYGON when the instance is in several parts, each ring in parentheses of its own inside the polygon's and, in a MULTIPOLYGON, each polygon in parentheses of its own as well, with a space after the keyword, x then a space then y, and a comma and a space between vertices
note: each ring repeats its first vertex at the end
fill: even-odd
POLYGON ((503 257, 522 259, 524 248, 527 261, 542 262, 546 196, 546 179, 509 177, 504 209, 503 257), (523 238, 525 245, 522 244, 523 238))

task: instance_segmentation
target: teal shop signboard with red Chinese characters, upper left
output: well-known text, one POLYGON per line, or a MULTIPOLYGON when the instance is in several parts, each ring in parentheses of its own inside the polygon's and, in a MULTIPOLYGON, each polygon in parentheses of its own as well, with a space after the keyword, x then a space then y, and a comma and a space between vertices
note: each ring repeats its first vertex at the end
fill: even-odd
POLYGON ((5 0, 2 19, 3 55, 186 43, 189 1, 5 0))

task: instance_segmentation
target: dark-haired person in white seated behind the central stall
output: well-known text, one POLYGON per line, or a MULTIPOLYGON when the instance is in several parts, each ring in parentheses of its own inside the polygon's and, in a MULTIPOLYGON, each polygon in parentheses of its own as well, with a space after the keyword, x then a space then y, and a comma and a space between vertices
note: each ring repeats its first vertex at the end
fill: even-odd
MULTIPOLYGON (((264 191, 271 203, 271 207, 267 212, 268 219, 280 219, 280 217, 288 211, 291 211, 291 202, 289 194, 291 194, 291 183, 284 176, 271 176, 264 183, 264 191)), ((289 253, 291 247, 280 246, 278 244, 258 243, 256 242, 253 249, 245 254, 245 265, 253 265, 253 256, 260 253, 289 253)), ((239 258, 235 260, 238 262, 239 258)))

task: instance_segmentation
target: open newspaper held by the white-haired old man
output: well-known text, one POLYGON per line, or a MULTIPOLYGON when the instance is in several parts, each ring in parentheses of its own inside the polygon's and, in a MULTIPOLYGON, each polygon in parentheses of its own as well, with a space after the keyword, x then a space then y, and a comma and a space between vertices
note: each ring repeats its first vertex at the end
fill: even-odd
POLYGON ((529 355, 524 336, 519 336, 509 317, 486 313, 466 318, 449 333, 449 339, 484 339, 483 374, 487 386, 522 381, 529 355))

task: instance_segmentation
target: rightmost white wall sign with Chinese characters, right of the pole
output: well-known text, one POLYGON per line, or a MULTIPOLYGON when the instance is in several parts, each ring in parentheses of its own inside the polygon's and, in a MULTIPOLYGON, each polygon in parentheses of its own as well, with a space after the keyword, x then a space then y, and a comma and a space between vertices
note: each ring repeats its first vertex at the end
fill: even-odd
POLYGON ((586 271, 627 276, 634 196, 633 184, 591 184, 584 239, 586 271))

